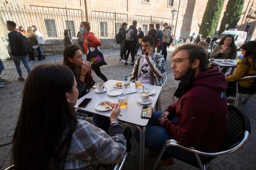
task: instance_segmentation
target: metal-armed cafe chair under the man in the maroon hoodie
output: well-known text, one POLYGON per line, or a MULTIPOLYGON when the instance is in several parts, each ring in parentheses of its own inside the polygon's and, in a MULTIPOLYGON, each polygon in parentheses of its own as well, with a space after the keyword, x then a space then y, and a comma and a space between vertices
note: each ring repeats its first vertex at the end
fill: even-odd
POLYGON ((216 153, 207 153, 207 152, 200 152, 199 150, 195 150, 195 148, 187 148, 179 144, 174 139, 166 140, 163 148, 161 149, 158 158, 156 159, 156 163, 153 169, 156 169, 158 163, 168 147, 177 147, 181 148, 181 150, 194 153, 195 160, 197 161, 187 161, 182 160, 181 158, 177 158, 175 155, 172 155, 174 158, 178 160, 184 161, 185 163, 191 164, 199 169, 205 169, 205 165, 210 161, 213 160, 216 156, 224 155, 227 153, 235 152, 237 149, 241 148, 242 145, 245 144, 250 134, 250 121, 248 117, 236 106, 228 105, 228 122, 227 122, 227 129, 226 134, 223 142, 223 147, 219 152, 216 153), (207 156, 205 159, 202 160, 199 155, 207 156))

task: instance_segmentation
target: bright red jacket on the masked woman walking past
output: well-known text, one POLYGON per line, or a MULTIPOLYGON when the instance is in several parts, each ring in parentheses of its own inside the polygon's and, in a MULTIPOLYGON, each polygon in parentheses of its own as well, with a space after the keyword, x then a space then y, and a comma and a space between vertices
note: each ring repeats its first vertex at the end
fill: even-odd
POLYGON ((100 39, 96 38, 93 33, 84 33, 83 34, 83 49, 85 54, 88 54, 88 47, 98 47, 101 46, 100 39), (87 41, 87 43, 86 43, 87 41))

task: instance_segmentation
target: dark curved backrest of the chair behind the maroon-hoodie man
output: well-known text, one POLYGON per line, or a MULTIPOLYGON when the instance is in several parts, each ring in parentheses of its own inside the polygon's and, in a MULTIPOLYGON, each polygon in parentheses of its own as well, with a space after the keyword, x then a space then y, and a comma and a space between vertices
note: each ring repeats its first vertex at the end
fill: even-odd
POLYGON ((223 150, 233 148, 244 138, 244 132, 250 133, 250 121, 248 117, 234 105, 228 105, 228 122, 223 150))

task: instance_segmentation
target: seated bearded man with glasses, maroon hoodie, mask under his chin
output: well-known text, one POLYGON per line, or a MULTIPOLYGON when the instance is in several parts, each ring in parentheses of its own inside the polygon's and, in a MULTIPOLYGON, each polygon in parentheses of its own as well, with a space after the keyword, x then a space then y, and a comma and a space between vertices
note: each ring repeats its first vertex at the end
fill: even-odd
MULTIPOLYGON (((164 112, 153 113, 145 134, 145 145, 159 150, 168 139, 203 152, 221 148, 226 131, 228 100, 223 73, 206 68, 207 54, 197 44, 185 44, 173 52, 174 79, 179 80, 174 96, 179 100, 164 112)), ((168 148, 169 155, 195 161, 194 153, 168 148)))

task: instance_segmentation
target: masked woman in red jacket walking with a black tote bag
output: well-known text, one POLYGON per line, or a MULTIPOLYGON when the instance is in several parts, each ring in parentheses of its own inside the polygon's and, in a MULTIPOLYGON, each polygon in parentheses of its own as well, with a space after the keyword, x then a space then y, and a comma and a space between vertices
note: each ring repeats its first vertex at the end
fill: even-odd
MULTIPOLYGON (((83 34, 83 48, 85 51, 85 55, 87 56, 87 60, 92 63, 92 70, 95 71, 96 75, 103 79, 103 81, 108 81, 105 75, 101 73, 100 66, 105 65, 103 54, 98 50, 97 47, 101 46, 100 39, 96 38, 92 32, 90 32, 90 23, 89 22, 81 22, 80 33, 83 34), (90 47, 95 47, 95 51, 91 51, 90 47), (97 60, 94 54, 100 54, 101 59, 97 60), (93 58, 94 57, 94 58, 93 58)), ((98 55, 99 56, 99 55, 98 55)))

